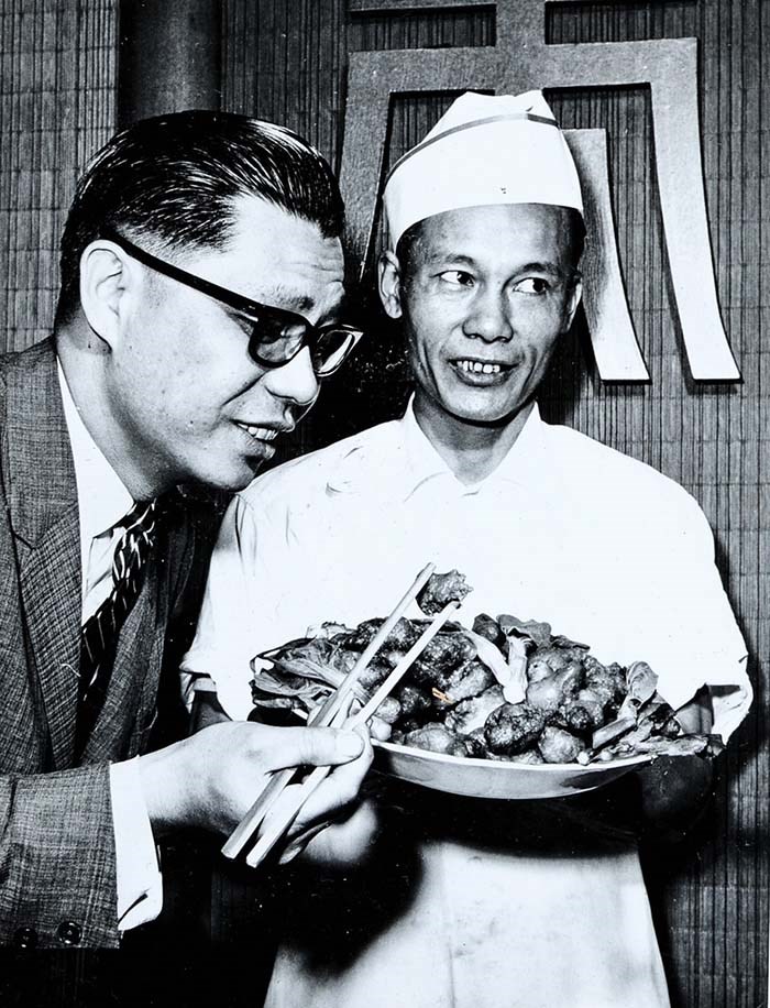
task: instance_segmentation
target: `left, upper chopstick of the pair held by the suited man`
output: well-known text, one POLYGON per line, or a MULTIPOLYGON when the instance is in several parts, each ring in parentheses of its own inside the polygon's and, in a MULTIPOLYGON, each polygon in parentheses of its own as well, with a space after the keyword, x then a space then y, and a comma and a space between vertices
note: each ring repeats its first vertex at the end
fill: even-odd
MULTIPOLYGON (((369 664, 372 658, 376 655, 383 644, 391 636, 391 631, 394 628, 396 623, 400 620, 407 609, 415 601, 417 595, 422 591, 425 585, 428 583, 430 576, 436 570, 435 563, 427 563, 419 574, 415 578, 414 582, 409 589, 405 592, 403 598, 399 600, 396 607, 393 610, 391 615, 384 623, 381 624, 376 634, 372 637, 369 645, 359 656, 353 668, 348 672, 345 678, 339 684, 334 692, 330 693, 329 697, 324 700, 321 706, 318 709, 318 712, 311 720, 308 720, 308 724, 318 725, 321 727, 329 726, 337 713, 342 710, 345 705, 348 698, 350 698, 353 688, 356 682, 369 668, 369 664)), ((254 831, 257 829, 260 823, 264 820, 267 812, 273 808, 275 802, 278 800, 284 789, 292 780, 296 773, 295 767, 287 767, 284 770, 276 770, 271 779, 267 781, 266 786, 263 788, 258 798, 254 804, 249 809, 243 819, 235 826, 233 832, 230 834, 229 839, 222 847, 222 854, 226 857, 238 857, 241 851, 245 847, 248 841, 253 835, 254 831)), ((312 775, 310 775, 312 776, 312 775)), ((308 778, 309 779, 309 778, 308 778)), ((322 778, 321 778, 322 779, 322 778)), ((320 784, 320 781, 319 781, 320 784)), ((295 813, 296 814, 296 813, 295 813)), ((288 829, 288 826, 287 826, 288 829)))

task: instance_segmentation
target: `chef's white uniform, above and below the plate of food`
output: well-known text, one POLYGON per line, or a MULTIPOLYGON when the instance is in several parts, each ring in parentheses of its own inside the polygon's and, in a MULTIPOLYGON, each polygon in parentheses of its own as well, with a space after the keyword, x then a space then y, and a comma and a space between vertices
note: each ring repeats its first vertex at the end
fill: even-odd
MULTIPOLYGON (((473 585, 461 620, 548 620, 600 660, 648 661, 674 708, 706 683, 725 739, 748 709, 746 647, 696 502, 650 467, 544 424, 537 408, 475 485, 458 481, 411 408, 256 480, 226 516, 184 666, 209 675, 242 717, 253 656, 323 621, 386 615, 431 560, 473 585)), ((299 929, 278 951, 270 1008, 668 1006, 632 832, 602 832, 588 817, 594 844, 568 815, 547 841, 542 817, 559 823, 573 799, 417 791, 416 861, 396 829, 374 878, 345 873, 342 888, 375 933, 353 953, 339 883, 328 916, 323 885, 310 887, 299 929), (413 876, 409 864, 419 866, 413 876), (408 897, 388 913, 402 889, 408 897)), ((624 800, 631 795, 622 788, 624 800)), ((616 799, 603 800, 619 814, 616 799)))

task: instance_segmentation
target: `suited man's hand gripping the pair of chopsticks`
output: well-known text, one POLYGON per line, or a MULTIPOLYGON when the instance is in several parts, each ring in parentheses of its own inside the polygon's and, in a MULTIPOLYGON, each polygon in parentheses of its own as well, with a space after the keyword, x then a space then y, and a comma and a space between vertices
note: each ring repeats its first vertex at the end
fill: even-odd
MULTIPOLYGON (((140 774, 155 831, 201 826, 227 834, 275 770, 336 767, 297 817, 288 834, 292 841, 322 826, 354 801, 371 762, 372 747, 363 728, 350 732, 222 721, 141 757, 140 774)), ((278 806, 273 814, 279 814, 278 806)))

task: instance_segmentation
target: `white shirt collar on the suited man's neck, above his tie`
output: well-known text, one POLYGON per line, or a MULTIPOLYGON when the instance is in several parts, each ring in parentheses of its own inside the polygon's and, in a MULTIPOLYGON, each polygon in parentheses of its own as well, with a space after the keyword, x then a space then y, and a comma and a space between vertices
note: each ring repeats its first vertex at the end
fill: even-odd
POLYGON ((86 429, 56 361, 69 443, 75 462, 80 535, 91 539, 109 532, 131 510, 133 498, 86 429))

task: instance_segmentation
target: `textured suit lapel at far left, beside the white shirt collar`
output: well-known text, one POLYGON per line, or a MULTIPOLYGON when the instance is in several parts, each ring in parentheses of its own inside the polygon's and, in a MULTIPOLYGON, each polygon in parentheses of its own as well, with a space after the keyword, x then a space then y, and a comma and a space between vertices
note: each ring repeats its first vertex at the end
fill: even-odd
POLYGON ((21 591, 57 768, 72 765, 80 660, 77 485, 53 342, 8 372, 11 523, 21 591))

